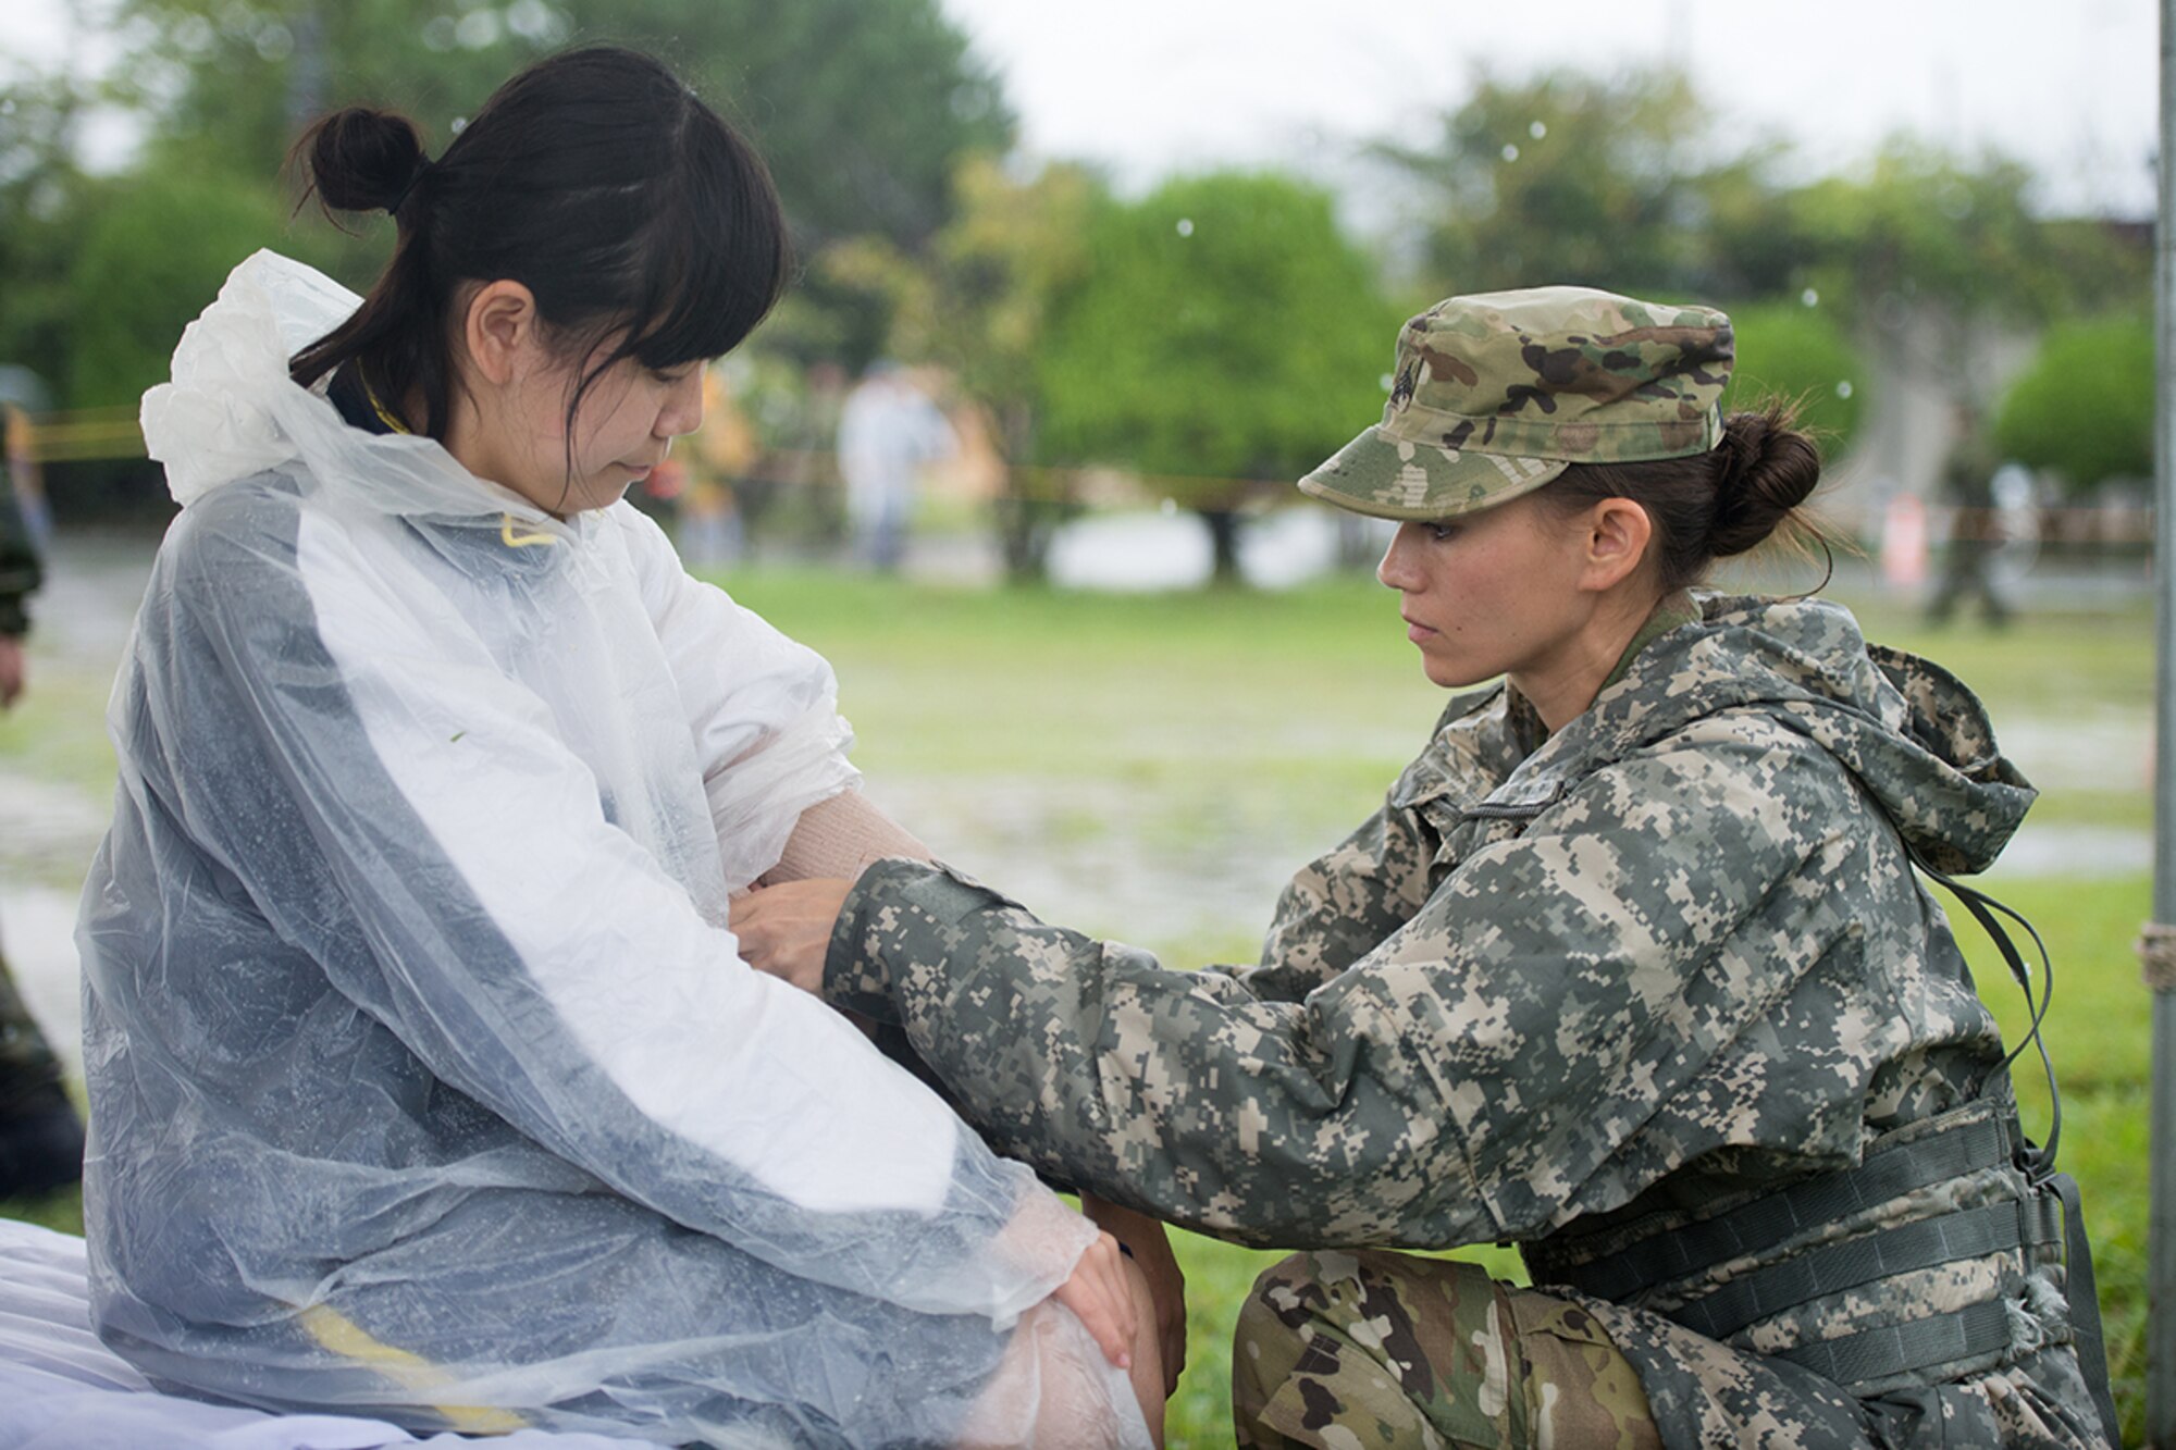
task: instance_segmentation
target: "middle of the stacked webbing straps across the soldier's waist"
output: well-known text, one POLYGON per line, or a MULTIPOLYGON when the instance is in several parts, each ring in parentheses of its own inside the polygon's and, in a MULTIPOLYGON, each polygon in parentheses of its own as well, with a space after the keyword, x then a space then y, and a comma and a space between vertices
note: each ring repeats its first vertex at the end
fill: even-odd
POLYGON ((1784 1258, 1732 1278, 1713 1293, 1665 1313, 1708 1339, 1730 1339, 1747 1324, 1810 1300, 1871 1285, 1891 1274, 1932 1269, 1961 1258, 1985 1258, 2061 1239, 2061 1211, 2050 1197, 2035 1193, 2024 1200, 1961 1208, 1826 1243, 1797 1258, 1784 1258))

